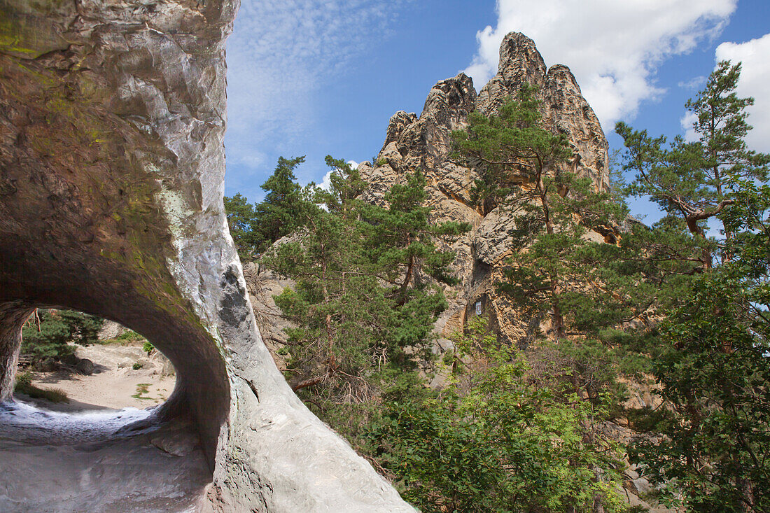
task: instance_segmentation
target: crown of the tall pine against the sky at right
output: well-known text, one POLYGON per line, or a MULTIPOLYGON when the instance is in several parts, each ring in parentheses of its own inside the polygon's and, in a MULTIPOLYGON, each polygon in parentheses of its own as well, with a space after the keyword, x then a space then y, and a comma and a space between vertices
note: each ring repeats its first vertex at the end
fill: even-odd
MULTIPOLYGON (((735 94, 741 65, 720 62, 708 83, 686 107, 698 121, 694 129, 698 141, 675 137, 665 148, 664 136, 648 136, 618 122, 615 132, 626 146, 624 169, 636 173, 629 192, 649 196, 669 216, 683 220, 700 247, 700 269, 709 270, 717 241, 706 236, 706 223, 729 209, 734 200, 729 190, 740 180, 764 180, 770 156, 749 150, 745 136, 752 128, 746 121, 745 108, 754 99, 735 94)), ((732 235, 723 224, 724 235, 732 235)), ((729 253, 722 253, 723 260, 729 253)))

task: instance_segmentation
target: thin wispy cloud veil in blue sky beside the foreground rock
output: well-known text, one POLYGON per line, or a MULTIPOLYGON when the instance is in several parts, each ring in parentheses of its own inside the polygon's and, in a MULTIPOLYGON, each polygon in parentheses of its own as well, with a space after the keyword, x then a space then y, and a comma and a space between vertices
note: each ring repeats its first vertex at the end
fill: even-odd
POLYGON ((265 149, 310 129, 317 95, 404 1, 243 0, 227 42, 230 162, 268 165, 265 149))

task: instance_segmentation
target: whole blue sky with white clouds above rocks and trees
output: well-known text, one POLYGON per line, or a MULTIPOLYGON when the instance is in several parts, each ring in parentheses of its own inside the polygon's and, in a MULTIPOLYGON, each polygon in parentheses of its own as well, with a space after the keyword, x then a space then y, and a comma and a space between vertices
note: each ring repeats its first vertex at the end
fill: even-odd
POLYGON ((371 159, 390 116, 419 113, 435 82, 465 71, 480 89, 511 30, 572 69, 614 148, 619 119, 684 133, 685 100, 716 60, 742 60, 738 92, 756 99, 749 142, 770 151, 767 2, 243 0, 227 47, 226 194, 262 199, 279 156, 306 155, 303 183, 322 181, 326 154, 371 159))

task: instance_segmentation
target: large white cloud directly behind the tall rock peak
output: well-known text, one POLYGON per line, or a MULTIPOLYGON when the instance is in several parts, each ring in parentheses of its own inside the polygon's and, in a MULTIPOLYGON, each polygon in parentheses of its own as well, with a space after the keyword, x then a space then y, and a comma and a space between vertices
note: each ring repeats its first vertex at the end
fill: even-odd
POLYGON ((548 65, 570 67, 605 129, 665 92, 656 67, 721 32, 737 0, 497 0, 497 27, 477 33, 466 72, 477 88, 497 72, 504 35, 523 32, 548 65))

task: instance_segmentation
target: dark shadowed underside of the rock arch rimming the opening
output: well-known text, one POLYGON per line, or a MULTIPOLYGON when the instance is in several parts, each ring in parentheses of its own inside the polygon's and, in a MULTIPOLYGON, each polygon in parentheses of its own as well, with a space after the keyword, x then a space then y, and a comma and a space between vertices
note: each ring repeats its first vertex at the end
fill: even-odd
POLYGON ((81 288, 81 280, 63 281, 75 287, 60 285, 57 289, 65 293, 58 294, 57 289, 37 283, 32 287, 35 293, 27 290, 23 300, 8 300, 8 288, 0 293, 0 401, 12 400, 22 325, 35 308, 79 310, 114 320, 142 334, 171 360, 176 385, 169 398, 153 410, 153 421, 191 420, 209 470, 213 471, 219 429, 229 411, 229 381, 223 358, 203 326, 184 317, 180 320, 179 316, 151 304, 145 296, 133 293, 130 287, 100 289, 98 296, 93 297, 93 287, 81 288))

